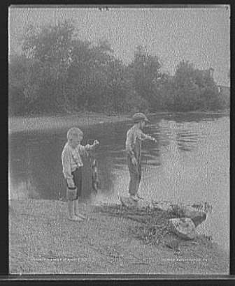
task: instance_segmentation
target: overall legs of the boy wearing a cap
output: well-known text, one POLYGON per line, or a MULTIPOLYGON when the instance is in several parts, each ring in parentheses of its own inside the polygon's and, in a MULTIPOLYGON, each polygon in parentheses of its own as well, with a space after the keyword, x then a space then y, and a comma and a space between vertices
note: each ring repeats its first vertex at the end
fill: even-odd
POLYGON ((138 192, 138 187, 141 183, 141 163, 138 162, 137 165, 133 165, 131 163, 131 157, 127 156, 127 166, 130 174, 129 194, 136 195, 138 192))

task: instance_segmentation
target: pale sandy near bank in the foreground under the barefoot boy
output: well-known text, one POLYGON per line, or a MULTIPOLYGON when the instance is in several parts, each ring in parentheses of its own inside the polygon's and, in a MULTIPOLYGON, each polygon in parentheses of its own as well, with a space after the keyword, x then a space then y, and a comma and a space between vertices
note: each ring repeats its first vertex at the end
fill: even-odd
POLYGON ((229 253, 208 239, 179 251, 133 234, 141 222, 80 204, 87 220, 67 219, 66 202, 10 200, 10 273, 227 274, 229 253))

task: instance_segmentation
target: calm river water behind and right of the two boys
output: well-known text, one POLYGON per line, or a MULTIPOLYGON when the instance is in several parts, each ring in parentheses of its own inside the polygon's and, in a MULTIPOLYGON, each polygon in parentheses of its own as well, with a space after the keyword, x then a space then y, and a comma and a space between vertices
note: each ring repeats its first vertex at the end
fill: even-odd
MULTIPOLYGON (((152 200, 208 202, 213 211, 199 232, 229 249, 229 116, 164 114, 150 118, 145 133, 157 144, 143 143, 140 193, 152 200)), ((101 200, 118 202, 127 194, 124 142, 131 123, 104 123, 83 128, 83 144, 100 146, 83 158, 83 200, 90 197, 91 163, 97 158, 101 200)), ((61 153, 67 130, 15 133, 9 140, 10 198, 59 200, 65 197, 61 153)))

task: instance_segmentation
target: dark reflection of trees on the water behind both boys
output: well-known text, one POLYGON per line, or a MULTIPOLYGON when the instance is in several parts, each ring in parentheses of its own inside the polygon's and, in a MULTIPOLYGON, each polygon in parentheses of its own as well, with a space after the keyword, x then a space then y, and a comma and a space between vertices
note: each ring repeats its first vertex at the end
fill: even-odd
MULTIPOLYGON (((164 118, 151 116, 151 124, 145 128, 145 133, 154 136, 157 144, 144 142, 142 164, 159 167, 162 165, 162 156, 167 154, 169 160, 180 163, 180 152, 190 153, 197 149, 205 129, 199 122, 196 114, 180 116, 166 114, 164 118)), ((212 116, 215 120, 216 116, 212 116)), ((218 118, 218 116, 217 116, 218 118)), ((210 118, 211 119, 211 118, 210 118)), ((208 123, 207 118, 205 123, 208 123)), ((202 121, 200 121, 202 122, 202 121)), ((124 142, 127 130, 131 123, 100 124, 90 126, 84 130, 83 144, 92 144, 98 139, 100 146, 89 157, 83 158, 85 179, 83 183, 83 197, 89 197, 91 187, 91 164, 96 158, 99 162, 99 176, 102 190, 113 190, 113 170, 123 170, 126 165, 124 142)), ((208 134, 208 133, 207 133, 208 134)), ((10 136, 9 159, 11 186, 18 186, 27 182, 36 190, 36 197, 58 199, 65 195, 65 182, 62 176, 61 152, 66 141, 66 130, 53 130, 47 133, 32 132, 18 133, 10 136)), ((166 159, 166 158, 165 158, 166 159)), ((30 193, 35 196, 35 191, 30 193)))

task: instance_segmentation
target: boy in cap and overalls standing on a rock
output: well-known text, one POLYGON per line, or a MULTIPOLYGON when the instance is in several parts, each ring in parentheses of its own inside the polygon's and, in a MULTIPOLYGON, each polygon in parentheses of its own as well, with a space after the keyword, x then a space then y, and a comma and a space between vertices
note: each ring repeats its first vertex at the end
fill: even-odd
POLYGON ((134 126, 127 131, 126 151, 127 165, 130 174, 129 195, 132 200, 141 199, 138 195, 138 187, 141 183, 141 143, 143 140, 152 140, 157 142, 155 138, 145 135, 143 128, 148 122, 145 114, 139 112, 133 116, 134 126))

